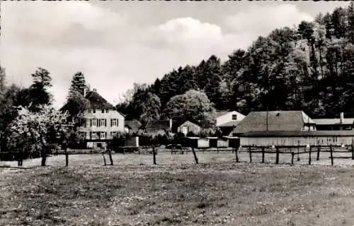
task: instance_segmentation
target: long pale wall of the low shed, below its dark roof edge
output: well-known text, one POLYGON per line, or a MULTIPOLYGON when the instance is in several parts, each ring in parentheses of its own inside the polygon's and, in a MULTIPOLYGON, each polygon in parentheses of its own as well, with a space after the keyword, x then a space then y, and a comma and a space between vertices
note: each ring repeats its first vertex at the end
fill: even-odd
POLYGON ((241 137, 240 145, 351 145, 354 136, 319 136, 319 137, 241 137))

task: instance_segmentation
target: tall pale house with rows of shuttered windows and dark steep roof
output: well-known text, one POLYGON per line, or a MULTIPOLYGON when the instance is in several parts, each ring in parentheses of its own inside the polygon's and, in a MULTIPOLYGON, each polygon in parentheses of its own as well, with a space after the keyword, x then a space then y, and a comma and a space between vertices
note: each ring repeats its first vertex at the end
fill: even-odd
POLYGON ((85 124, 79 131, 87 148, 105 148, 116 133, 125 131, 125 118, 96 89, 88 92, 85 98, 91 107, 84 112, 85 124))

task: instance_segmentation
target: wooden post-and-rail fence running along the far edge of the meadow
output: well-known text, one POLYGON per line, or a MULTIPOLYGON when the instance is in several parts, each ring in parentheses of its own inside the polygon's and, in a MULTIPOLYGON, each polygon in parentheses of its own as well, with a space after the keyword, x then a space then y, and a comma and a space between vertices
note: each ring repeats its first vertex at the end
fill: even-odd
MULTIPOLYGON (((129 148, 129 147, 128 147, 129 148)), ((275 157, 275 161, 273 163, 280 164, 280 157, 287 156, 291 157, 291 159, 287 158, 288 163, 292 165, 296 162, 299 162, 301 159, 308 160, 308 164, 311 165, 313 161, 319 160, 331 160, 331 165, 334 165, 334 160, 336 159, 348 159, 354 160, 354 148, 353 145, 343 147, 342 145, 302 145, 302 146, 243 146, 239 148, 158 148, 154 146, 144 147, 144 148, 132 148, 132 152, 125 152, 125 148, 122 148, 122 154, 130 154, 130 155, 152 155, 152 162, 156 165, 159 162, 159 159, 156 155, 159 153, 171 153, 171 155, 177 154, 188 154, 193 153, 193 157, 195 163, 198 164, 198 153, 234 153, 234 161, 241 162, 241 158, 246 162, 261 162, 261 163, 271 163, 274 161, 273 157, 275 157), (241 155, 245 154, 246 155, 241 155), (261 154, 261 155, 259 155, 261 154), (328 154, 330 154, 328 156, 328 154), (266 159, 266 156, 268 158, 266 159), (272 156, 270 162, 269 156, 272 156)), ((113 151, 112 150, 55 150, 52 151, 51 155, 66 155, 66 165, 69 163, 69 155, 103 155, 103 161, 105 165, 107 165, 106 157, 109 156, 108 160, 110 161, 110 165, 113 165, 112 158, 113 151)), ((18 158, 23 155, 21 152, 8 152, 8 153, 0 153, 3 155, 13 155, 13 157, 18 158)), ((15 159, 17 160, 17 159, 15 159)), ((22 163, 21 163, 22 166, 22 163)))

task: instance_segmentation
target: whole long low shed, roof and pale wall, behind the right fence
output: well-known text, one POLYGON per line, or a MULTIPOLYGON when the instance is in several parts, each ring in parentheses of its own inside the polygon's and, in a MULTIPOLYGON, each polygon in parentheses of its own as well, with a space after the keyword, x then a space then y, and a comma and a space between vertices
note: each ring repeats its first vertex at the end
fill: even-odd
POLYGON ((354 131, 249 131, 240 135, 241 146, 329 146, 353 142, 354 131))

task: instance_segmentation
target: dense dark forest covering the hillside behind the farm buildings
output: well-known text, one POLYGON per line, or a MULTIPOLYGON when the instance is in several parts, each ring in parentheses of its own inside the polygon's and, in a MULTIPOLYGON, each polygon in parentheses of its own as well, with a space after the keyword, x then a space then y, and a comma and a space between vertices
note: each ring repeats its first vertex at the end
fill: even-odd
POLYGON ((304 110, 310 117, 354 117, 354 5, 278 28, 236 49, 135 84, 117 107, 127 118, 160 119, 171 97, 205 93, 217 110, 304 110), (156 105, 157 103, 157 105, 156 105), (153 109, 149 115, 149 109, 153 109), (147 115, 148 114, 148 115, 147 115))

